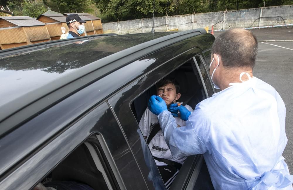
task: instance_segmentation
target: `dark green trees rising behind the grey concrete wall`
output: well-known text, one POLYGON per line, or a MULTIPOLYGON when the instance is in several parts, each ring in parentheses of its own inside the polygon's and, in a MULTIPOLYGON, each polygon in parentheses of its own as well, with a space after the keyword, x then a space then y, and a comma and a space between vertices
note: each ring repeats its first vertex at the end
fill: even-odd
MULTIPOLYGON (((93 0, 102 13, 103 22, 130 20, 153 16, 153 0, 93 0)), ((154 15, 170 16, 279 6, 293 0, 155 0, 154 15)))

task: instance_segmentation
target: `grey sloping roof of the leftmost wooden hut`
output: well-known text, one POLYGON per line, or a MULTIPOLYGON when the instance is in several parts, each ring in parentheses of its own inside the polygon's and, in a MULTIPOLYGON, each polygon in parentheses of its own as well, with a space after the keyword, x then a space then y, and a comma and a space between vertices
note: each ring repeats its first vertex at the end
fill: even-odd
POLYGON ((44 26, 45 25, 45 23, 42 23, 29 16, 0 16, 0 18, 12 24, 15 24, 17 26, 44 26))

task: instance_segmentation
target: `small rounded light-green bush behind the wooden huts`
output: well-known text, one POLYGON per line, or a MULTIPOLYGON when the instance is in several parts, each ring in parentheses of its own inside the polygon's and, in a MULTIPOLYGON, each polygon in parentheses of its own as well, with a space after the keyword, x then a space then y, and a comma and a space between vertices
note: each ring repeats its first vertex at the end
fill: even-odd
POLYGON ((37 18, 40 14, 47 11, 42 1, 24 2, 22 4, 23 15, 37 18))

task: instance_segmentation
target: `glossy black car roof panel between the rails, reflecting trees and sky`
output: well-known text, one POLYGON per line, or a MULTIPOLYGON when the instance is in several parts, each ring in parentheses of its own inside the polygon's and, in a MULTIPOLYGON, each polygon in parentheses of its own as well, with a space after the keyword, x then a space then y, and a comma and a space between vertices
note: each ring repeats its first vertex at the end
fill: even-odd
POLYGON ((172 32, 117 35, 1 58, 0 106, 101 58, 168 34, 172 32))

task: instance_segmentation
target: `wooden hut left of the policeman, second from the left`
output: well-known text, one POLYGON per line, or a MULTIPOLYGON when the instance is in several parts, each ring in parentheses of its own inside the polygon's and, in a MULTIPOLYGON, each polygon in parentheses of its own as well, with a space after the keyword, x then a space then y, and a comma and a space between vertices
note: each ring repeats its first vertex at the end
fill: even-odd
POLYGON ((51 40, 60 39, 62 34, 61 27, 65 27, 68 32, 68 27, 66 24, 66 16, 57 13, 57 14, 41 14, 38 16, 37 20, 45 23, 48 32, 50 34, 51 40))

